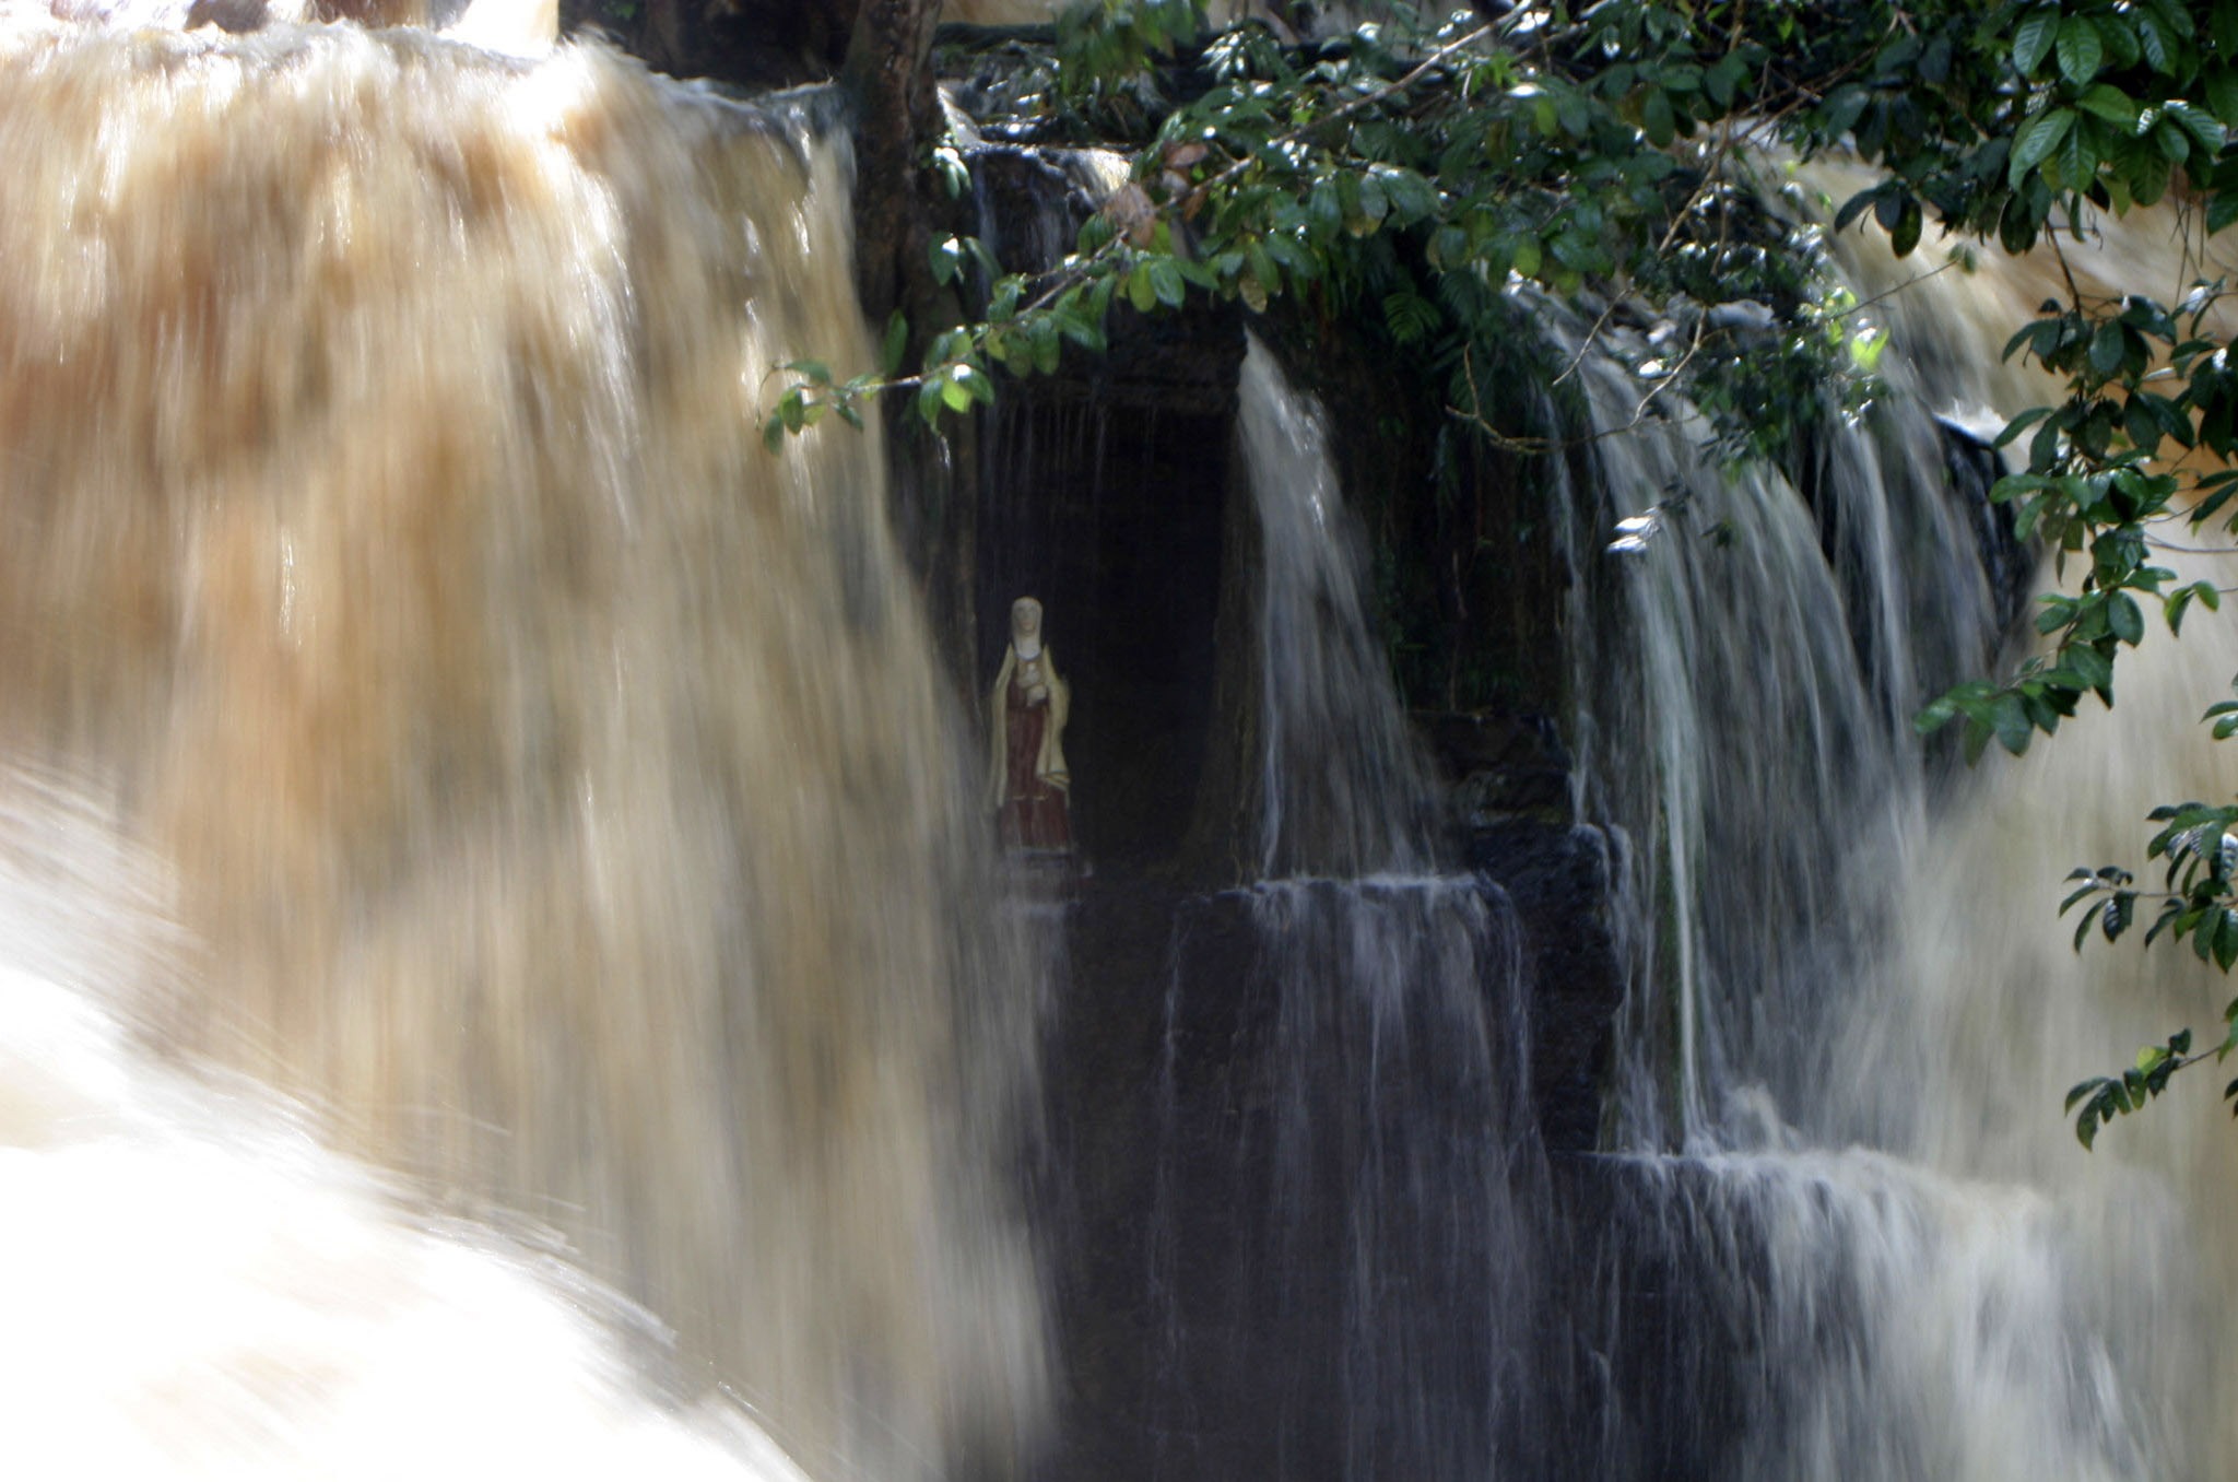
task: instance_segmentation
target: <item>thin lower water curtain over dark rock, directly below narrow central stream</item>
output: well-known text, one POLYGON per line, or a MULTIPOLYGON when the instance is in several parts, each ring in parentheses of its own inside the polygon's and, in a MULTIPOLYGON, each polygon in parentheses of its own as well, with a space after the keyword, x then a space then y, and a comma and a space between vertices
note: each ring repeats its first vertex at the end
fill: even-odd
POLYGON ((1540 1178, 1508 902, 1466 875, 1269 882, 1186 909, 1170 972, 1159 1464, 1515 1460, 1540 1178))

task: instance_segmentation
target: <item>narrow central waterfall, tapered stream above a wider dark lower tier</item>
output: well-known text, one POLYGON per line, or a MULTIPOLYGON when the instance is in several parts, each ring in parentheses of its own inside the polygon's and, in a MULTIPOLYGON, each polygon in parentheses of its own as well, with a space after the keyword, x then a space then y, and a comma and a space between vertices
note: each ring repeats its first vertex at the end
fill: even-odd
POLYGON ((1432 873, 1323 412, 1256 340, 1240 445, 1269 878, 1175 927, 1155 1464, 1473 1482, 1538 1439, 1517 1424, 1542 1189, 1520 925, 1497 887, 1432 873))

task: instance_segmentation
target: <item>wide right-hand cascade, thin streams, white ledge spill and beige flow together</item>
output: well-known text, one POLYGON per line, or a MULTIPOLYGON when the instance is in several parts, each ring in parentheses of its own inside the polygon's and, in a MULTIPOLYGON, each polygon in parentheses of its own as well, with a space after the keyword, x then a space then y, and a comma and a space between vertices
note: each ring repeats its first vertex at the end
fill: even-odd
MULTIPOLYGON (((1629 1464, 1661 1444, 1766 1480, 2238 1466, 2225 1119, 2169 1106, 2086 1157, 2059 1115, 2211 998, 2189 960, 2072 956, 2052 916, 2066 869, 2142 855, 2155 797, 2234 790, 2193 721, 2238 645, 2153 636, 2113 716, 1929 790, 1905 719, 1994 642, 1925 401, 2019 410, 2010 325, 1965 334, 1983 291, 2014 296, 1909 289, 1891 398, 1826 439, 1815 508, 1699 459, 1685 419, 1600 439, 1567 490, 1598 531, 1571 613, 1582 797, 1636 864, 1623 1142, 1692 1153, 1636 1160, 1616 1242, 1694 1312, 1670 1413, 1717 1415, 1629 1464), (1649 504, 1652 533, 1600 555, 1649 504)), ((1632 421, 1627 356, 1647 351, 1587 360, 1596 428, 1632 421)))

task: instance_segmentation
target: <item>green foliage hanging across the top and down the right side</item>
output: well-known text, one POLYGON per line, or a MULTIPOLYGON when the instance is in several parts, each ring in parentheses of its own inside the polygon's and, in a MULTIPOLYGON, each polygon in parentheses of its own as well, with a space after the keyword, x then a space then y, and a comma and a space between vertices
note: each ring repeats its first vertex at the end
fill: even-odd
MULTIPOLYGON (((1408 374, 1439 367, 1444 405, 1488 423, 1470 378, 1515 284, 1555 296, 1620 284, 1705 325, 1737 298, 1768 307, 1761 327, 1699 336, 1667 383, 1719 416, 1723 437, 1770 439, 1759 430, 1779 425, 1781 407, 1817 401, 1784 390, 1828 376, 1866 385, 1873 343, 1844 329, 1853 300, 1795 266, 1795 242, 1739 179, 1743 121, 1770 121, 1806 157, 1842 148, 1875 166, 1835 226, 1871 210, 1898 255, 1918 251, 1929 222, 2025 251, 2068 237, 2090 210, 2166 199, 2211 233, 2238 226, 2238 159, 2225 157, 2238 0, 1614 0, 1544 9, 1529 38, 1479 36, 1459 7, 1444 7, 1452 18, 1419 7, 1428 20, 1408 9, 1390 7, 1343 47, 1285 49, 1242 27, 1200 54, 1193 0, 1074 4, 1005 137, 1135 152, 1128 199, 1144 210, 1092 217, 1076 251, 1036 275, 1005 275, 971 237, 938 242, 929 269, 976 318, 931 336, 911 376, 911 334, 891 322, 877 385, 915 387, 920 416, 940 425, 987 405, 1000 376, 1059 369, 1065 347, 1101 351, 1112 300, 1135 313, 1193 300, 1264 313, 1289 300, 1305 325, 1388 336, 1408 374)), ((960 146, 933 152, 953 197, 967 195, 967 163, 960 146)), ((2021 754, 2088 696, 2113 703, 2148 604, 2171 631, 2218 611, 2213 582, 2180 582, 2153 555, 2180 515, 2238 515, 2238 472, 2180 472, 2204 461, 2182 457, 2191 450, 2238 459, 2238 358, 2200 327, 2218 291, 2166 309, 2086 282, 2077 302, 2048 302, 2012 336, 2005 354, 2063 390, 1999 437, 2025 468, 1994 497, 2052 555, 2061 591, 2037 607, 2043 651, 1934 698, 1922 734, 1956 725, 1969 759, 1992 745, 2021 754)), ((770 419, 774 441, 855 405, 801 365, 770 419)), ((2207 723, 2238 739, 2238 701, 2207 723)), ((2084 873, 2061 907, 2079 913, 2077 942, 2122 938, 2142 916, 2146 940, 2189 938, 2204 960, 2238 965, 2231 819, 2184 804, 2157 826, 2164 889, 2115 866, 2084 873)), ((2155 1050, 2077 1086, 2068 1110, 2086 1146, 2189 1063, 2189 1039, 2155 1050)))

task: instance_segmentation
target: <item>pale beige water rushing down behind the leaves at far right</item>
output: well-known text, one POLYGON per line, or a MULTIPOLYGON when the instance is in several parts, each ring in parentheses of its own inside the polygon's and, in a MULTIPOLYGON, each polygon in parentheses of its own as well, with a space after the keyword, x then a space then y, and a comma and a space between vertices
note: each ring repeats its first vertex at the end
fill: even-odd
MULTIPOLYGON (((1866 293, 1918 271, 1864 233, 1849 233, 1840 251, 1866 293)), ((2202 271, 2222 269, 2178 222, 2137 213, 2068 244, 2068 271, 2175 302, 2202 271)), ((1999 363, 2005 325, 2057 296, 2061 278, 2034 257, 1945 273, 1896 293, 1891 325, 1922 345, 1929 394, 2010 416, 2050 396, 1999 363)), ((2213 327, 2231 331, 2227 316, 2213 327)), ((2227 544, 2218 531, 2193 533, 2178 519, 2157 535, 2166 546, 2155 560, 2180 582, 2234 580, 2231 557, 2213 551, 2227 544)), ((2054 584, 2043 562, 2034 589, 2054 584)), ((2173 945, 2146 951, 2131 938, 2077 954, 2072 918, 2054 922, 2052 902, 2079 864, 2122 862, 2157 880, 2144 860, 2155 804, 2238 795, 2238 752, 2198 723, 2234 674, 2229 622, 2187 622, 2173 638, 2155 616, 2144 645, 2124 651, 2110 714, 2086 703, 2025 759, 1983 763, 1927 831, 1898 891, 1905 931, 1875 981, 1893 1012, 1855 1014, 1842 1041, 1851 1077, 1837 1095, 1862 1128, 1940 1175, 2019 1184, 2043 1200, 2034 1238, 2057 1256, 2066 1323, 2032 1343, 2066 1354, 2070 1370, 2090 1372, 2077 1354, 2110 1366, 2077 1410, 2106 1417, 2101 1433, 2119 1424, 2137 1433, 2131 1475, 2238 1475, 2238 1417, 2227 1404, 2238 1383, 2238 1256, 2227 1238, 2238 1218, 2238 1137, 2209 1081, 2110 1131, 2093 1155, 2081 1155, 2057 1108, 2068 1086, 2124 1063, 2135 1045, 2184 1023, 2204 1032, 2231 983, 2173 945), (1913 1099, 1900 1092, 1907 1084, 1940 1095, 1913 1099)), ((2101 1444, 2063 1469, 2115 1475, 2122 1462, 2101 1444)))

